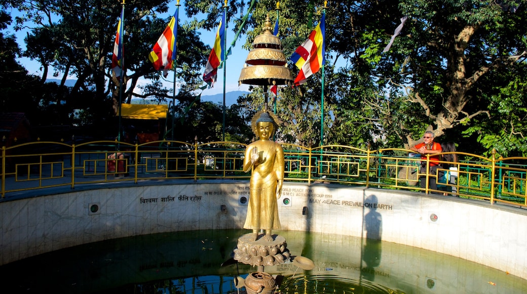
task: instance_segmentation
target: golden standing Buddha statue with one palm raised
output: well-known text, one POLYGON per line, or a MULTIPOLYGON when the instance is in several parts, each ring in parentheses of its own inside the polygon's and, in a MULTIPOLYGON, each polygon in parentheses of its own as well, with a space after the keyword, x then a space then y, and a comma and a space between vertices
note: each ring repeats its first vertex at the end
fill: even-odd
POLYGON ((272 230, 280 229, 278 201, 284 183, 284 150, 272 140, 277 129, 267 112, 257 113, 252 119, 252 130, 259 140, 247 146, 243 171, 252 168, 247 218, 243 228, 252 230, 251 240, 258 239, 258 231, 265 230, 264 240, 273 241, 272 230))

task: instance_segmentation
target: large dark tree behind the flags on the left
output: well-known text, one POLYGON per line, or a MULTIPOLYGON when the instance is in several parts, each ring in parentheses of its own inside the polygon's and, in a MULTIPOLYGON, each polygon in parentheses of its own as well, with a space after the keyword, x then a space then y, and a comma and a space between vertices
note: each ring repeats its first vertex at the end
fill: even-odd
MULTIPOLYGON (((120 81, 112 75, 110 63, 121 12, 119 2, 27 0, 22 1, 17 8, 25 14, 17 17, 16 28, 33 25, 25 39, 27 50, 24 55, 42 64, 45 69, 43 81, 49 66, 55 68, 55 76, 62 75, 56 103, 79 106, 82 103, 72 102, 77 97, 85 96, 83 93, 86 91, 93 91, 95 103, 104 104, 111 96, 116 113, 120 81), (72 89, 66 90, 64 81, 71 75, 76 76, 77 82, 72 89)), ((168 4, 159 0, 126 2, 123 84, 128 88, 124 87, 123 102, 130 103, 132 96, 154 96, 159 100, 172 97, 169 95, 171 89, 164 89, 159 83, 159 73, 154 71, 147 58, 168 23, 168 20, 156 17, 155 13, 168 10, 168 4), (138 81, 143 77, 153 80, 153 83, 138 87, 138 81), (139 93, 140 90, 146 92, 139 93)), ((177 63, 179 68, 183 68, 183 71, 179 71, 179 82, 183 84, 180 92, 195 90, 201 81, 198 81, 198 73, 193 69, 199 68, 199 64, 205 60, 207 48, 199 40, 196 26, 192 25, 181 26, 178 44, 179 48, 183 48, 179 51, 181 57, 177 63)), ((85 109, 89 107, 83 106, 85 109)))

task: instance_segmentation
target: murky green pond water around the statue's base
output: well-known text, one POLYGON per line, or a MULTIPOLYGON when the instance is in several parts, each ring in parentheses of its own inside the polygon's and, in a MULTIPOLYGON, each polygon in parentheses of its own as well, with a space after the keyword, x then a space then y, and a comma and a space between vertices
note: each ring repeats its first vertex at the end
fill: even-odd
MULTIPOLYGON (((256 268, 232 263, 248 230, 200 230, 114 239, 0 267, 2 293, 245 293, 233 283, 256 268), (223 264, 223 266, 222 266, 223 264)), ((276 231, 291 262, 265 267, 281 293, 527 293, 527 281, 474 262, 401 244, 324 233, 276 231)), ((482 245, 483 246, 483 245, 482 245)))

